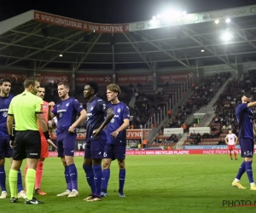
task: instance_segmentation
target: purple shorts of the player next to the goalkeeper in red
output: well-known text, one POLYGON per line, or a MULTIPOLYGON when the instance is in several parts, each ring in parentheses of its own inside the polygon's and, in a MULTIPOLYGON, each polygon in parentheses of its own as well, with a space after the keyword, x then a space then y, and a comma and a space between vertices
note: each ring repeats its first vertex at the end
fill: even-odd
POLYGON ((75 133, 63 133, 57 135, 57 152, 58 157, 73 156, 76 145, 77 134, 75 133))

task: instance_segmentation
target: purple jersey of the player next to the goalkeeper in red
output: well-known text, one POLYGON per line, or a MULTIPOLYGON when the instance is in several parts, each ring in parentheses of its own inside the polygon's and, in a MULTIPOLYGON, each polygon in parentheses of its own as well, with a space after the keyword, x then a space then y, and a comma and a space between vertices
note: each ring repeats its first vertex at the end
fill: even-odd
POLYGON ((73 97, 57 102, 51 111, 57 116, 58 120, 56 135, 67 132, 69 127, 76 121, 78 113, 83 109, 83 105, 73 97))

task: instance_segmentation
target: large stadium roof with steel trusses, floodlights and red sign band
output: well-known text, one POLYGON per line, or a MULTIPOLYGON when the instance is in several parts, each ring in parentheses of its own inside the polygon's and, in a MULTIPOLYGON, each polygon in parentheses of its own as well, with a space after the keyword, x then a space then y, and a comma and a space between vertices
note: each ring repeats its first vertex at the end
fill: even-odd
POLYGON ((256 60, 255 14, 252 5, 106 25, 30 10, 0 22, 0 68, 189 70, 201 59, 204 66, 236 69, 236 55, 240 62, 256 60), (224 43, 220 35, 227 31, 233 38, 224 43))

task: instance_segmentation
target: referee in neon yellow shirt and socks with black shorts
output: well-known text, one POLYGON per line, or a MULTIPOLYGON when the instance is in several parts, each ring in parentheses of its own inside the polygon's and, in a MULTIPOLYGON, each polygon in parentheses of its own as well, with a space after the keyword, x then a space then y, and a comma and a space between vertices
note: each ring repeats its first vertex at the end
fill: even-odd
POLYGON ((43 114, 43 100, 36 96, 40 83, 37 78, 29 77, 24 82, 25 91, 13 98, 9 105, 7 127, 10 146, 13 147, 13 163, 9 170, 10 203, 17 203, 17 174, 22 160, 26 158, 26 200, 25 204, 44 204, 33 197, 38 158, 41 153, 41 141, 38 124, 49 144, 55 147, 49 138, 47 123, 43 114), (12 126, 15 120, 15 142, 12 126))

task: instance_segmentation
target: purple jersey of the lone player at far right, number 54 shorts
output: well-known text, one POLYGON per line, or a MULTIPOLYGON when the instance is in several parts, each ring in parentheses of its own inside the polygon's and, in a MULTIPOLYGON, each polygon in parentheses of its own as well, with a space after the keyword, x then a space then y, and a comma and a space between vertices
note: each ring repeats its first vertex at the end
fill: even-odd
POLYGON ((239 124, 239 138, 253 139, 253 108, 247 108, 247 103, 236 107, 236 119, 239 124))

